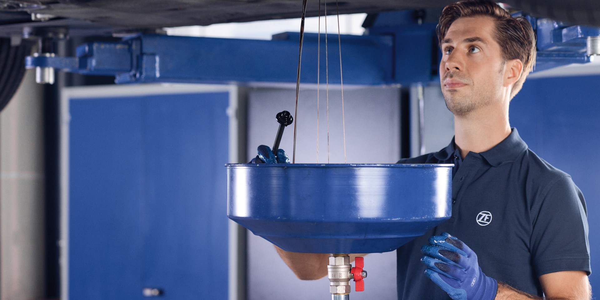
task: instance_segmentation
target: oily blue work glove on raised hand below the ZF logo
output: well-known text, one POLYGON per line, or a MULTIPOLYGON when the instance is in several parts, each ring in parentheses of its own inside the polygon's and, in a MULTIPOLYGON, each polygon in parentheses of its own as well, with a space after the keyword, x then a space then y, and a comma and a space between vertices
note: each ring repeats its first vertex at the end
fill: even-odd
POLYGON ((494 300, 498 283, 479 268, 477 255, 460 239, 444 232, 421 248, 425 275, 454 300, 494 300))

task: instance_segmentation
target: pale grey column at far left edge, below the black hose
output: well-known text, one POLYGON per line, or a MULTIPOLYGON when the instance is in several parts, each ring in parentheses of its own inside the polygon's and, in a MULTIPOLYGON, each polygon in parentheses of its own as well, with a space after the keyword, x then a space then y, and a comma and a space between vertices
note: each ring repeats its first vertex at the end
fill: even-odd
POLYGON ((0 298, 43 299, 43 86, 27 71, 0 113, 0 298))

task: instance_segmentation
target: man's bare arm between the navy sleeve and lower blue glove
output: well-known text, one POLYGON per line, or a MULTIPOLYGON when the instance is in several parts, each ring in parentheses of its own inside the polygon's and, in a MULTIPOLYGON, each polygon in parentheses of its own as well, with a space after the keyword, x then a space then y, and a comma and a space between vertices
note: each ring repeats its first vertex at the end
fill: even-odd
MULTIPOLYGON (((562 271, 541 275, 539 282, 546 300, 590 300, 592 287, 584 271, 562 271)), ((514 289, 505 283, 498 283, 496 300, 542 300, 514 289)))

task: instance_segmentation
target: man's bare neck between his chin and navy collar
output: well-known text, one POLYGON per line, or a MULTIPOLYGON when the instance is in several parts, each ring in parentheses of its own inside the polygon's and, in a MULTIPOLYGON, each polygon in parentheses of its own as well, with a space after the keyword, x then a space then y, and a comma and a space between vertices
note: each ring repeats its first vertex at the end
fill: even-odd
POLYGON ((467 116, 454 116, 454 143, 462 158, 469 152, 488 151, 509 134, 508 106, 481 107, 467 116))

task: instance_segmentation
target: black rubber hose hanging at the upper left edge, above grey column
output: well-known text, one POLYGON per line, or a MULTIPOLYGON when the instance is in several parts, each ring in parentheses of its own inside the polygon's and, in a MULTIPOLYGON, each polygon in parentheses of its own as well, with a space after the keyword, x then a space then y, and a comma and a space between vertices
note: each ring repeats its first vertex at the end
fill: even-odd
POLYGON ((25 75, 25 56, 30 55, 32 43, 23 40, 11 46, 10 38, 0 38, 0 111, 7 106, 25 75))

